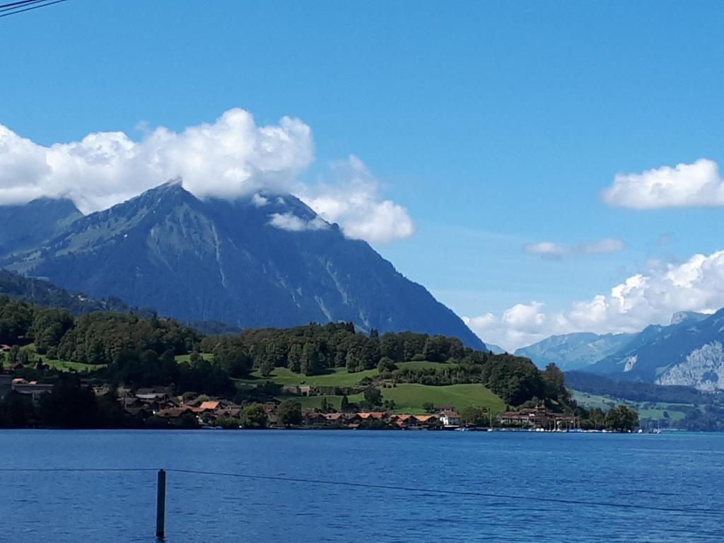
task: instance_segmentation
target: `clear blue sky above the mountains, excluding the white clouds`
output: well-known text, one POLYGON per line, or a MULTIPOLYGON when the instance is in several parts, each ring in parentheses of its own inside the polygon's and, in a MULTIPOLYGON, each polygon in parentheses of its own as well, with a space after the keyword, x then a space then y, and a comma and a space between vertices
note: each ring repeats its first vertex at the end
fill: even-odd
POLYGON ((462 316, 544 304, 522 335, 479 323, 512 348, 627 277, 724 248, 719 206, 601 196, 616 174, 723 164, 723 16, 720 2, 70 0, 0 19, 0 124, 50 146, 232 108, 298 117, 315 157, 302 182, 352 154, 407 209, 416 233, 374 243, 397 269, 462 316), (606 238, 625 248, 584 251, 606 238), (523 251, 542 241, 576 249, 523 251))

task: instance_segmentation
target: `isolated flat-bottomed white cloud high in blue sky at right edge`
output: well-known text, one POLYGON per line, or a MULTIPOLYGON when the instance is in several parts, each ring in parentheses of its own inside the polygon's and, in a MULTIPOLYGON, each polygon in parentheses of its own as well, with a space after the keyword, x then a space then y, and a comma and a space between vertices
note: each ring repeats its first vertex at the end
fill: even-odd
POLYGON ((713 161, 649 169, 641 174, 618 174, 603 191, 609 206, 631 209, 724 206, 724 179, 713 161))

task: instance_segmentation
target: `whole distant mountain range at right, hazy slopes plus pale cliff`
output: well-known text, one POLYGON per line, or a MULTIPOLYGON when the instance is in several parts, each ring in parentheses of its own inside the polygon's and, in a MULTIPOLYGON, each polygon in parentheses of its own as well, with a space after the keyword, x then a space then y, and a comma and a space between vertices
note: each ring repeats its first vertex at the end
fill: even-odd
POLYGON ((675 313, 668 326, 638 334, 552 336, 515 351, 538 366, 555 362, 613 379, 724 390, 724 309, 675 313))

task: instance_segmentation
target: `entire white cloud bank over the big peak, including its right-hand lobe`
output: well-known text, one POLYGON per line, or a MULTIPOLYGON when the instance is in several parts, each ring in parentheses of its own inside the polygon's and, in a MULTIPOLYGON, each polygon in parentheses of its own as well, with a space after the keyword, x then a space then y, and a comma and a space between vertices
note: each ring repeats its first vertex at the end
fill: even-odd
MULTIPOLYGON (((198 198, 291 192, 348 237, 384 243, 412 235, 407 211, 382 198, 355 157, 332 165, 332 180, 313 188, 298 182, 313 161, 311 128, 283 117, 258 126, 248 111, 230 109, 213 123, 174 132, 142 125, 133 141, 123 132, 93 132, 83 140, 41 146, 0 125, 0 205, 34 198, 70 198, 83 213, 107 209, 144 190, 180 177, 198 198)), ((275 225, 293 219, 272 219, 275 225)), ((308 230, 308 228, 307 228, 308 230)))

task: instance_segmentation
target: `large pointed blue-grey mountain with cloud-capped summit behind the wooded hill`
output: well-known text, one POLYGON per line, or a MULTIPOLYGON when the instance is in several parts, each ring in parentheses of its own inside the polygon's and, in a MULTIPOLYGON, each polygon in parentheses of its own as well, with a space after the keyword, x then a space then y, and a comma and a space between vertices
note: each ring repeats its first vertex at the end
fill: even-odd
POLYGON ((38 245, 0 264, 184 321, 242 328, 351 321, 484 348, 424 287, 292 195, 201 201, 168 183, 38 245))

